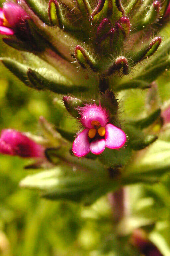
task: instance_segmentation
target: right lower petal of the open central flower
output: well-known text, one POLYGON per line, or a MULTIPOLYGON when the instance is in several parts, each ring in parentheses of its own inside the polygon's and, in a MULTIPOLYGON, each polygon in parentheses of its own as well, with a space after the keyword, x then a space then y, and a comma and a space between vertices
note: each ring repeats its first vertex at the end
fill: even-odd
POLYGON ((107 148, 118 149, 125 144, 126 134, 124 131, 114 126, 113 124, 107 124, 105 129, 105 141, 107 148))

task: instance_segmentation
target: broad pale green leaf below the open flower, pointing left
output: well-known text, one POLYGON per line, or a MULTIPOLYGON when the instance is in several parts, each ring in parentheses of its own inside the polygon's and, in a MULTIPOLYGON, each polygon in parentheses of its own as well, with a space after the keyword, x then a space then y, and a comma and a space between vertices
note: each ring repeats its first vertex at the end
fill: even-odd
MULTIPOLYGON (((20 182, 23 188, 37 189, 48 199, 67 199, 92 203, 110 188, 103 173, 73 171, 65 166, 27 176, 20 182)), ((112 185, 113 186, 113 185, 112 185)))

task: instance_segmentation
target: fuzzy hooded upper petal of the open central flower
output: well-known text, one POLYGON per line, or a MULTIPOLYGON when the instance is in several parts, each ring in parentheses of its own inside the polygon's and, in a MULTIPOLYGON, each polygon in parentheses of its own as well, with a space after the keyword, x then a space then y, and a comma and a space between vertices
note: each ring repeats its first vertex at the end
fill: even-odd
POLYGON ((84 107, 79 108, 79 112, 81 115, 81 123, 89 129, 93 128, 91 125, 92 121, 98 121, 103 127, 108 122, 108 113, 101 105, 86 104, 84 107))

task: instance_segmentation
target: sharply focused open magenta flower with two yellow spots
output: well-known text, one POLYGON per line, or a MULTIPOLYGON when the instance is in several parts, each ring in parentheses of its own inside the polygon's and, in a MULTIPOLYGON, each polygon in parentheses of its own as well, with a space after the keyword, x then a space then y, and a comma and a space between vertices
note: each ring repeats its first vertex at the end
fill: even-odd
POLYGON ((105 147, 121 148, 126 142, 124 131, 109 122, 109 116, 101 105, 86 104, 79 108, 80 121, 85 129, 78 134, 73 142, 72 151, 75 156, 82 157, 90 151, 101 154, 105 147))

